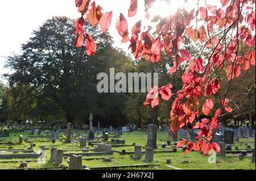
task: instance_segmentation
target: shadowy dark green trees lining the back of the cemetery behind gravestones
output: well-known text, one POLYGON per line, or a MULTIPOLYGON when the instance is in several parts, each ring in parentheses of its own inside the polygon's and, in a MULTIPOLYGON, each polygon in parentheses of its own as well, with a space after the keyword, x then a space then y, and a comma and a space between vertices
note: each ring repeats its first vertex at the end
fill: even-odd
MULTIPOLYGON (((89 113, 93 113, 94 120, 100 121, 102 127, 118 127, 128 123, 141 127, 148 123, 160 125, 170 122, 172 102, 161 102, 152 110, 142 104, 147 93, 100 94, 96 89, 96 77, 100 72, 109 74, 110 68, 126 74, 157 72, 159 86, 171 82, 174 87, 179 88, 183 85, 180 80, 187 63, 184 62, 180 71, 172 75, 168 73, 173 62, 170 57, 163 56, 155 64, 143 58, 133 61, 122 50, 113 48, 113 39, 109 33, 102 34, 99 28, 95 29, 86 23, 86 32, 97 43, 97 52, 88 57, 84 53, 85 45, 80 49, 75 47, 73 31, 72 19, 53 17, 32 33, 27 43, 22 45, 22 54, 15 54, 7 59, 6 68, 11 73, 5 75, 8 85, 0 84, 1 122, 21 122, 28 119, 34 123, 39 120, 52 123, 59 120, 79 126, 82 123, 88 124, 89 113)), ((196 52, 189 40, 185 41, 185 48, 196 52)), ((241 79, 248 84, 255 79, 251 74, 255 76, 254 68, 234 81, 231 97, 234 96, 235 99, 236 92, 246 87, 239 83, 241 79)), ((224 87, 225 81, 222 80, 224 87)), ((174 88, 175 92, 177 88, 174 88)), ((255 100, 255 90, 251 94, 255 100)), ((245 114, 241 119, 255 117, 254 101, 246 100, 243 107, 242 112, 245 114)), ((228 116, 230 119, 234 118, 233 115, 228 116)))

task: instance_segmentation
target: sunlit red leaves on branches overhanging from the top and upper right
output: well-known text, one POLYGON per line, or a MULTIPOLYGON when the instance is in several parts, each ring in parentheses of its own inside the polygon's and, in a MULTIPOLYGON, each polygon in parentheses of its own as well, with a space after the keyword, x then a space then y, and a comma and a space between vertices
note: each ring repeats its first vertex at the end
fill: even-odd
MULTIPOLYGON (((144 0, 146 18, 150 15, 148 10, 154 5, 156 0, 144 0)), ((200 112, 205 116, 210 116, 213 110, 214 96, 221 89, 220 79, 214 73, 224 69, 229 81, 241 74, 241 68, 248 70, 250 64, 255 66, 255 0, 220 0, 222 7, 217 8, 212 5, 205 5, 190 11, 183 9, 177 10, 174 14, 161 18, 155 16, 151 22, 156 26, 142 28, 142 20, 139 20, 131 28, 129 35, 128 23, 125 15, 119 13, 115 28, 122 37, 122 43, 130 42, 129 49, 136 59, 144 57, 146 60, 158 62, 161 56, 173 57, 173 66, 169 72, 176 73, 183 62, 188 62, 188 68, 184 71, 181 79, 182 89, 176 94, 172 93, 172 85, 152 87, 146 96, 144 106, 151 104, 154 108, 159 105, 160 97, 163 100, 174 98, 172 103, 171 129, 177 132, 178 129, 186 124, 193 124, 193 129, 200 129, 197 132, 199 141, 191 142, 183 140, 178 143, 182 146, 187 142, 186 153, 194 150, 202 150, 205 154, 209 150, 219 151, 219 146, 212 142, 212 134, 218 128, 218 117, 222 110, 232 112, 228 107, 229 100, 221 100, 221 108, 218 108, 211 119, 199 120, 200 112), (195 20, 203 22, 197 26, 195 20), (193 23, 191 23, 193 22, 193 23), (196 25, 195 25, 196 24, 196 25), (218 28, 222 34, 232 33, 232 41, 226 42, 221 33, 213 32, 218 28), (147 30, 146 30, 147 29, 147 30), (152 32, 154 30, 154 32, 152 32), (192 53, 184 49, 184 37, 191 39, 199 48, 209 49, 208 56, 192 56, 192 53), (238 56, 240 43, 246 43, 251 49, 242 56, 238 56), (214 77, 216 76, 216 77, 214 77)), ((81 47, 84 43, 83 27, 85 25, 84 15, 92 26, 100 23, 103 33, 109 30, 112 22, 113 13, 102 12, 101 6, 90 0, 75 0, 76 6, 81 12, 76 25, 75 33, 76 47, 81 47), (91 9, 88 10, 89 5, 91 9), (87 14, 86 14, 87 13, 87 14)), ((128 9, 128 8, 127 8, 128 9)), ((133 17, 137 14, 138 0, 130 0, 130 7, 127 16, 133 17)), ((90 56, 96 51, 96 44, 92 36, 85 33, 86 53, 90 56)))

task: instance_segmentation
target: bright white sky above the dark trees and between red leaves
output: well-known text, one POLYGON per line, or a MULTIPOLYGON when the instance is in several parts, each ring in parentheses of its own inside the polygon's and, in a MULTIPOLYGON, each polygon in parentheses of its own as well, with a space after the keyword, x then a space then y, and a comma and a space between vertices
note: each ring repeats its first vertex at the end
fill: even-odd
MULTIPOLYGON (((167 16, 172 14, 178 7, 183 6, 183 0, 168 0, 155 2, 150 10, 151 17, 155 15, 167 16)), ((143 6, 143 1, 139 0, 139 7, 143 6)), ((112 26, 110 34, 114 37, 115 47, 125 48, 129 44, 120 44, 121 36, 115 30, 115 20, 120 12, 127 18, 127 11, 130 0, 96 0, 104 8, 104 12, 113 10, 112 26)), ((143 7, 133 18, 127 18, 129 28, 138 20, 144 19, 143 7)), ((9 70, 3 69, 5 57, 11 53, 19 53, 20 44, 26 43, 31 36, 31 32, 36 30, 52 16, 68 16, 78 18, 79 13, 75 7, 74 0, 11 0, 0 1, 0 76, 9 70)), ((0 81, 2 78, 0 77, 0 81)))

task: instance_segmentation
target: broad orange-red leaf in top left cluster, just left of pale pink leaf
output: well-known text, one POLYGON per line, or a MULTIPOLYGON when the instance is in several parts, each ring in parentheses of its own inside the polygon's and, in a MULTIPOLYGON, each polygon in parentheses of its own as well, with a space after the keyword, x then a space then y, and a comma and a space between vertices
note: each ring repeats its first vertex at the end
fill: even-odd
POLYGON ((88 22, 92 24, 92 26, 95 26, 101 19, 102 16, 102 7, 98 5, 96 7, 95 1, 90 5, 91 9, 89 9, 88 14, 86 15, 86 18, 88 19, 88 22))

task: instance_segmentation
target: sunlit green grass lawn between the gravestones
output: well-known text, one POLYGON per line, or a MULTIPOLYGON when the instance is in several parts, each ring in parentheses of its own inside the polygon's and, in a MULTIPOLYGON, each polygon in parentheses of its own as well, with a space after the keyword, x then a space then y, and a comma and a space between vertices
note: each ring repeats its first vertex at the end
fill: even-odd
MULTIPOLYGON (((73 141, 70 144, 65 144, 64 141, 56 140, 53 144, 51 142, 51 138, 47 137, 38 137, 36 134, 31 136, 30 131, 27 132, 10 132, 10 137, 0 137, 1 142, 19 142, 19 135, 23 135, 23 144, 22 145, 13 145, 11 149, 26 149, 30 147, 29 142, 25 142, 24 140, 28 139, 32 143, 36 144, 34 146, 35 151, 40 152, 40 146, 46 146, 46 162, 45 163, 38 163, 37 158, 13 158, 13 159, 3 159, 0 158, 0 169, 16 169, 19 167, 20 162, 27 161, 29 168, 37 168, 42 169, 42 167, 47 167, 47 169, 54 169, 56 166, 54 163, 50 162, 50 150, 49 148, 56 147, 58 149, 64 149, 65 153, 81 153, 81 150, 71 150, 71 149, 81 149, 79 147, 79 137, 76 137, 76 131, 74 131, 73 141)), ((86 132, 81 131, 82 135, 85 135, 86 132)), ((46 132, 42 132, 42 135, 46 135, 46 132)), ((60 138, 64 137, 64 132, 60 133, 60 138)), ((100 140, 101 134, 97 135, 98 139, 100 140)), ((109 134, 109 141, 114 137, 114 133, 109 134)), ((178 137, 179 138, 179 137, 178 137)), ((102 167, 102 166, 120 166, 120 165, 135 165, 135 164, 146 164, 148 162, 144 162, 144 154, 142 155, 142 159, 140 160, 133 160, 130 158, 130 154, 119 154, 118 151, 126 150, 126 152, 134 151, 133 143, 136 145, 144 146, 147 142, 147 133, 146 131, 135 131, 135 132, 123 132, 122 136, 119 138, 114 138, 119 140, 125 140, 125 146, 122 147, 112 147, 114 153, 112 155, 90 155, 90 156, 83 156, 82 157, 82 165, 92 168, 93 167, 102 167), (97 158, 97 159, 88 159, 88 158, 97 158), (102 159, 100 159, 102 158, 102 159), (112 162, 106 163, 103 162, 103 158, 111 158, 112 162)), ((162 144, 167 145, 167 140, 171 140, 171 145, 174 146, 174 141, 171 137, 168 137, 167 132, 158 131, 157 134, 157 145, 158 148, 155 151, 171 151, 171 148, 162 148, 162 144)), ((238 146, 239 150, 244 150, 246 145, 250 145, 251 149, 254 148, 254 138, 240 138, 240 142, 234 142, 232 145, 232 150, 234 150, 235 146, 238 146)), ((13 151, 7 152, 10 145, 0 144, 0 155, 1 154, 13 154, 13 151)), ((91 146, 88 145, 88 149, 92 149, 91 146)), ((85 148, 84 148, 85 149, 85 148)), ((142 148, 144 151, 144 148, 142 148)), ((93 152, 89 150, 89 152, 93 152)), ((255 163, 251 163, 251 154, 247 154, 245 158, 242 160, 239 159, 238 154, 226 154, 226 157, 217 155, 216 163, 208 163, 209 155, 201 154, 200 152, 192 151, 191 153, 184 154, 184 152, 180 149, 177 149, 175 153, 154 153, 154 161, 151 163, 159 163, 160 165, 150 166, 150 167, 132 167, 126 169, 166 169, 172 170, 176 168, 179 169, 189 169, 189 170, 209 170, 209 169, 245 169, 245 170, 255 170, 255 163), (166 159, 171 159, 171 163, 167 164, 166 159)), ((69 157, 67 157, 69 159, 69 157)), ((63 159, 63 165, 68 166, 67 159, 63 159)))

